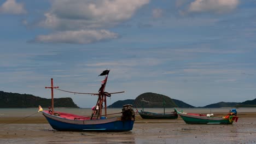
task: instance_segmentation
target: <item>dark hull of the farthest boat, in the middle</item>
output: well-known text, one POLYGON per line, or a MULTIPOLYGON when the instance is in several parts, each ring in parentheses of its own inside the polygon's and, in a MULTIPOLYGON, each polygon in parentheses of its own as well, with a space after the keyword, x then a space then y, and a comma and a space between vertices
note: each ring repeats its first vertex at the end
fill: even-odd
POLYGON ((177 113, 152 113, 152 112, 139 112, 139 115, 144 119, 176 119, 177 113))

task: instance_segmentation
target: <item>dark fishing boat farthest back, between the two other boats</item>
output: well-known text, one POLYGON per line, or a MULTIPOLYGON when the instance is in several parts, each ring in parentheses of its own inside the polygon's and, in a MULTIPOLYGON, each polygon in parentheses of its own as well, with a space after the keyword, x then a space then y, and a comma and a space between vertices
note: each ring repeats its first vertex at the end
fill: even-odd
MULTIPOLYGON (((144 99, 142 99, 141 101, 146 102, 146 103, 153 103, 150 101, 146 101, 144 99)), ((154 102, 154 103, 156 103, 156 102, 154 102)), ((140 112, 138 110, 137 110, 137 112, 144 119, 176 119, 176 118, 178 118, 178 114, 176 111, 165 112, 165 100, 163 101, 163 106, 164 106, 164 113, 154 113, 154 112, 144 111, 144 107, 142 108, 142 110, 140 112)))

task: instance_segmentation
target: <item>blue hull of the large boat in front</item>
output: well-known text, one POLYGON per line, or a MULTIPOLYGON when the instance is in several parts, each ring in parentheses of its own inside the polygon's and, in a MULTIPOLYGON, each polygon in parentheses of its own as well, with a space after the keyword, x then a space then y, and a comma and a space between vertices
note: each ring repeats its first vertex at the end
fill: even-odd
POLYGON ((134 121, 121 121, 121 117, 92 119, 92 120, 73 120, 53 116, 43 112, 43 115, 55 130, 60 131, 130 131, 134 121))

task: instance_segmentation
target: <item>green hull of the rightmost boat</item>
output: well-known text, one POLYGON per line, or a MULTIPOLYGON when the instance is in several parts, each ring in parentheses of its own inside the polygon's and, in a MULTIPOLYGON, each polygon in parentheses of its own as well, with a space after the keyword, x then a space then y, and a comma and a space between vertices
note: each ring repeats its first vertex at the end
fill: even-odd
POLYGON ((225 119, 223 117, 205 117, 205 116, 191 116, 184 113, 179 113, 179 116, 185 123, 188 124, 232 124, 231 119, 225 119))

